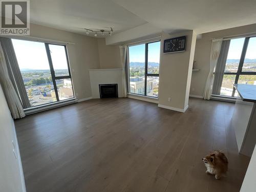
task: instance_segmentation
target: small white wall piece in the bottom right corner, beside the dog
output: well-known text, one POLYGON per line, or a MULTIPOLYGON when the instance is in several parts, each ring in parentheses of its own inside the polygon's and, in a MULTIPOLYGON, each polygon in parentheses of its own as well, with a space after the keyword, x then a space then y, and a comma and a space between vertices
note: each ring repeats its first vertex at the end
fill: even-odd
POLYGON ((256 170, 256 146, 254 147, 254 151, 251 156, 251 160, 247 168, 247 172, 244 177, 244 181, 240 189, 240 192, 255 192, 256 190, 255 170, 256 170))

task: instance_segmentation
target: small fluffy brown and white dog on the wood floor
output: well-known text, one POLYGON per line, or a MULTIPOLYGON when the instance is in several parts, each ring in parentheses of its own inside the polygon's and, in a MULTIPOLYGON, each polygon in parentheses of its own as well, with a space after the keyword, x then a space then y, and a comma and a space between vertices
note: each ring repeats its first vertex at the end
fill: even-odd
POLYGON ((202 158, 207 170, 205 173, 215 175, 216 179, 220 179, 227 172, 228 160, 224 153, 214 151, 205 158, 202 158))

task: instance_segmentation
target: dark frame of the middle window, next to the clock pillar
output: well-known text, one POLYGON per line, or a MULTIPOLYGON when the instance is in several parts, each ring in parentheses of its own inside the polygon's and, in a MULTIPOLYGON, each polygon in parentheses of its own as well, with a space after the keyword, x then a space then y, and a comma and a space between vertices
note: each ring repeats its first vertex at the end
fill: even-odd
MULTIPOLYGON (((128 66, 128 88, 129 88, 129 93, 130 94, 135 94, 135 95, 139 95, 139 96, 145 96, 145 97, 151 97, 151 98, 157 98, 158 97, 154 97, 154 96, 148 96, 147 95, 147 77, 159 77, 159 73, 147 73, 147 66, 148 66, 148 44, 152 44, 154 42, 161 42, 161 40, 154 40, 154 41, 150 41, 150 42, 143 42, 141 44, 135 44, 135 45, 131 45, 131 46, 127 46, 127 66, 128 66), (132 47, 132 46, 136 46, 136 45, 143 45, 145 44, 145 69, 144 69, 144 77, 145 77, 145 80, 144 80, 144 94, 138 94, 138 93, 131 93, 131 86, 130 86, 130 54, 129 54, 129 48, 132 47)), ((161 45, 160 45, 160 48, 161 48, 161 45)), ((160 53, 161 54, 161 49, 160 49, 160 53)), ((160 70, 160 60, 159 60, 159 70, 160 70)))

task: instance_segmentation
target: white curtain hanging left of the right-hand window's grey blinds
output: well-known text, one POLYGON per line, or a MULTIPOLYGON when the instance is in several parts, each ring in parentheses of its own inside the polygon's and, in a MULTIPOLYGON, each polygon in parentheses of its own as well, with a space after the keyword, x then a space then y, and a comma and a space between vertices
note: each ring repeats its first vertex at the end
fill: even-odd
POLYGON ((204 89, 204 99, 209 100, 212 92, 212 83, 214 82, 214 69, 218 62, 218 58, 221 52, 222 38, 214 39, 211 42, 210 51, 210 71, 207 77, 207 81, 204 89))

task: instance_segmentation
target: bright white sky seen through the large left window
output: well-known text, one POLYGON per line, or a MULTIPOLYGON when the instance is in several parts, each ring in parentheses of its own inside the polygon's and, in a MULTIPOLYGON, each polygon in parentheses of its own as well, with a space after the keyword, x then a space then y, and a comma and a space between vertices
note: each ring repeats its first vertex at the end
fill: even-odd
MULTIPOLYGON (((28 40, 12 39, 19 69, 50 70, 45 44, 28 40)), ((54 69, 68 69, 65 48, 49 45, 54 69)))

